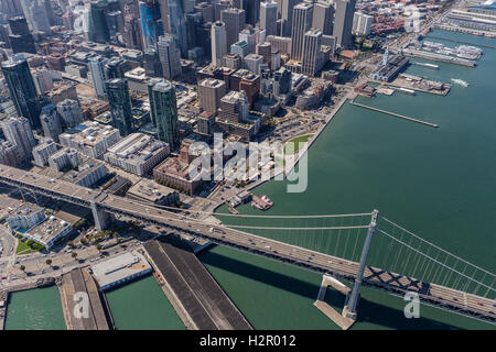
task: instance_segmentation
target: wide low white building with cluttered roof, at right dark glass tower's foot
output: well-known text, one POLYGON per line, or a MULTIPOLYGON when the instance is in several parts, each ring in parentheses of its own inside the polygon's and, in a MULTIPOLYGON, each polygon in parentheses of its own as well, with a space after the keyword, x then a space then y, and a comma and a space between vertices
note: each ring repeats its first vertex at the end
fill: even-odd
POLYGON ((143 176, 169 154, 169 146, 143 133, 131 133, 108 148, 104 160, 123 170, 143 176))

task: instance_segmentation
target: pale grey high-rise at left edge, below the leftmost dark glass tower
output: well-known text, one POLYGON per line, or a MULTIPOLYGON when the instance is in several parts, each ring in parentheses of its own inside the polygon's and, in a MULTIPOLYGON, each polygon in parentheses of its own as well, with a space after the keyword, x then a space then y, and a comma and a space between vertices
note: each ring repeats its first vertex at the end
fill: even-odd
POLYGON ((9 118, 1 122, 6 139, 17 146, 20 161, 29 160, 36 145, 30 121, 25 118, 9 118))

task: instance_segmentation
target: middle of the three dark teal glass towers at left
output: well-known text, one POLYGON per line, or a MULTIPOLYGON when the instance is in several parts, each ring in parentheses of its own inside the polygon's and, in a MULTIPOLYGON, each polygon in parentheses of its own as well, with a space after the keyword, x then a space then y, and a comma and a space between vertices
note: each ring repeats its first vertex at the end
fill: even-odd
POLYGON ((112 114, 112 125, 126 136, 132 132, 132 107, 129 97, 128 81, 112 78, 106 81, 107 97, 112 114))

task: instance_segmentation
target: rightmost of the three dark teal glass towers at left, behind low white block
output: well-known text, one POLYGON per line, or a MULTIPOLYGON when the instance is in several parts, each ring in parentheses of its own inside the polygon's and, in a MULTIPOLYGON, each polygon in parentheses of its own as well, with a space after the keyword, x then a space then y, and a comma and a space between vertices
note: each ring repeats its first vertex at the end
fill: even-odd
POLYGON ((152 78, 148 84, 151 119, 160 141, 176 150, 180 146, 175 88, 163 78, 152 78))

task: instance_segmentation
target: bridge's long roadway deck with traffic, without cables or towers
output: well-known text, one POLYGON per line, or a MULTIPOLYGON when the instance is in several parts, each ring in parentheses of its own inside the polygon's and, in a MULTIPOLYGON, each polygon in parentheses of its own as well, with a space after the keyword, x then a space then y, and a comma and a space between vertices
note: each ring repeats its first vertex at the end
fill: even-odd
MULTIPOLYGON (((128 198, 108 196, 103 191, 91 190, 67 182, 53 182, 46 176, 13 167, 0 167, 0 182, 78 205, 88 206, 91 201, 96 201, 99 208, 111 213, 185 231, 217 244, 234 246, 317 273, 327 273, 337 278, 354 280, 358 270, 358 263, 356 262, 229 229, 225 226, 203 223, 128 198)), ((419 293, 420 299, 425 304, 496 323, 494 299, 465 294, 371 266, 368 266, 365 271, 363 285, 400 296, 408 290, 413 290, 419 293)))

